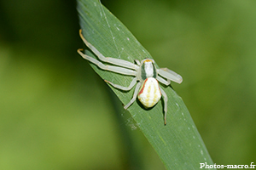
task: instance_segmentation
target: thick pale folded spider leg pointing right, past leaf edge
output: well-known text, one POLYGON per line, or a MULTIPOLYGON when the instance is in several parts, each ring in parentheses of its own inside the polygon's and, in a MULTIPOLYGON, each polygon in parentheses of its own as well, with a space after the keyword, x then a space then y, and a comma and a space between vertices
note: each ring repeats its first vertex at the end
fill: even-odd
POLYGON ((171 80, 177 83, 183 82, 183 77, 181 77, 176 72, 171 71, 167 68, 160 68, 160 69, 157 69, 157 71, 158 71, 158 74, 160 74, 160 76, 165 77, 168 80, 171 80))

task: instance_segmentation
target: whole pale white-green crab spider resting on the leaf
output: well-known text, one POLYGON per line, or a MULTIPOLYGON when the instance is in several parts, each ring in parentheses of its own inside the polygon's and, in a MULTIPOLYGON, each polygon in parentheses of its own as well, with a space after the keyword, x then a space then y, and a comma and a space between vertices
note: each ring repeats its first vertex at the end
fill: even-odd
POLYGON ((82 30, 79 30, 79 35, 85 45, 90 48, 90 50, 96 54, 96 56, 102 60, 102 62, 110 63, 112 65, 104 65, 101 61, 94 59, 86 54, 83 54, 82 48, 78 49, 78 53, 84 58, 89 60, 91 63, 97 65, 99 68, 105 71, 113 71, 122 75, 133 76, 133 80, 131 81, 128 87, 123 87, 118 84, 114 84, 113 82, 108 82, 114 88, 118 88, 123 91, 129 91, 133 88, 136 83, 136 88, 133 94, 131 101, 125 105, 125 110, 136 100, 143 104, 143 106, 148 109, 153 107, 160 100, 161 96, 164 99, 164 112, 165 112, 165 125, 166 125, 166 113, 167 113, 167 95, 165 91, 160 88, 159 82, 165 84, 166 86, 170 85, 171 80, 173 82, 181 83, 183 82, 183 78, 178 75, 176 72, 171 71, 167 68, 157 69, 154 65, 154 59, 143 59, 139 61, 135 59, 136 64, 133 64, 124 59, 115 59, 110 57, 104 57, 90 42, 87 42, 82 35, 82 30), (116 66, 115 66, 116 65, 116 66))

